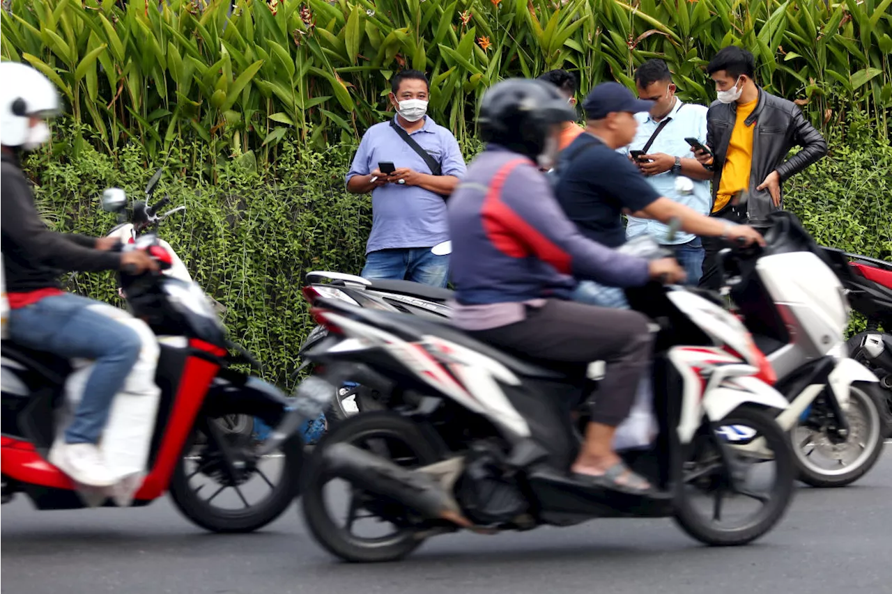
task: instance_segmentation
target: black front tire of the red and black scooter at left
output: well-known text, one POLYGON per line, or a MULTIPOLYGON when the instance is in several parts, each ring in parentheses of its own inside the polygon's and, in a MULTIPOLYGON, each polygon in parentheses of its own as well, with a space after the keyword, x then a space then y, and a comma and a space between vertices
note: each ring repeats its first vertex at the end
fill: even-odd
MULTIPOLYGON (((220 417, 232 415, 247 415, 249 418, 258 417, 270 426, 275 426, 278 421, 277 418, 268 417, 267 414, 260 410, 248 409, 253 408, 250 403, 243 403, 241 406, 224 406, 227 408, 226 410, 217 409, 211 413, 211 418, 209 418, 211 422, 219 421, 220 417)), ((199 414, 207 415, 205 411, 199 414)), ((177 467, 174 469, 173 476, 170 479, 169 491, 170 499, 173 500, 174 506, 190 522, 211 532, 254 532, 276 520, 277 517, 285 513, 285 510, 291 506, 294 499, 300 497, 303 441, 299 435, 293 435, 279 448, 278 453, 284 456, 282 476, 266 499, 244 509, 230 510, 212 507, 189 485, 189 475, 186 472, 186 455, 192 451, 196 441, 199 441, 197 438, 203 437, 198 425, 196 423, 193 433, 186 440, 186 446, 178 459, 177 467)), ((248 436, 244 441, 253 442, 251 436, 248 436)))

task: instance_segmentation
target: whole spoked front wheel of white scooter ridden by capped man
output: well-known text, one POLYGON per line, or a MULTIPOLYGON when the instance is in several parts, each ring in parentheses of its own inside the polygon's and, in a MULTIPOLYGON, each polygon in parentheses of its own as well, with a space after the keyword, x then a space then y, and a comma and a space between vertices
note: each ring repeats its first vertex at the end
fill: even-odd
POLYGON ((855 483, 877 463, 883 450, 886 399, 878 384, 852 384, 845 440, 827 430, 817 411, 789 433, 799 480, 813 487, 855 483))

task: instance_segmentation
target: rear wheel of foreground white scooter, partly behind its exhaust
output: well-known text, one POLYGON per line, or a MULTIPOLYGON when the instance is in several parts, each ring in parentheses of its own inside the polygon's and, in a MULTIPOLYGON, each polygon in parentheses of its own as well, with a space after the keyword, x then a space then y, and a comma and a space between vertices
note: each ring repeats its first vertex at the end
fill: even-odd
POLYGON ((320 546, 336 557, 360 563, 393 561, 409 555, 423 539, 407 518, 401 517, 406 514, 405 508, 387 504, 330 474, 322 457, 335 443, 350 443, 407 468, 434 464, 439 459, 436 450, 408 419, 386 411, 368 413, 347 419, 327 433, 313 451, 304 474, 303 519, 320 546), (335 492, 326 490, 329 487, 335 492), (346 507, 346 513, 335 511, 335 504, 346 507), (362 520, 377 525, 369 523, 372 525, 367 524, 367 530, 360 531, 356 524, 362 520), (373 536, 365 532, 383 533, 373 536))

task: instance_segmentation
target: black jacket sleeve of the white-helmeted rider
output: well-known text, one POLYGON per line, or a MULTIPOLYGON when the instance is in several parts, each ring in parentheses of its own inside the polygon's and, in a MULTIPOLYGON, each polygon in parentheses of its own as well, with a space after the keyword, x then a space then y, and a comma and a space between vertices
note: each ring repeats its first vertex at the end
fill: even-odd
MULTIPOLYGON (((81 240, 48 229, 37 216, 27 181, 15 175, 0 176, 4 188, 0 230, 11 240, 22 260, 62 270, 93 272, 120 268, 120 253, 85 247, 81 240)), ((95 243, 95 240, 92 240, 95 243)))

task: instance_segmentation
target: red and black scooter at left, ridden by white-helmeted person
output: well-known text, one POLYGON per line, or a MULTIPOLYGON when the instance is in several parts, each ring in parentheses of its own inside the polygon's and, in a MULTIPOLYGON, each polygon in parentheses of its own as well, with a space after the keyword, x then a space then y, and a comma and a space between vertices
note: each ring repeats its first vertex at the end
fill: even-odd
MULTIPOLYGON (((154 235, 122 249, 145 250, 161 268, 169 267, 169 254, 154 235)), ((272 522, 300 494, 303 444, 298 426, 286 415, 289 400, 274 386, 231 367, 259 364, 227 340, 198 285, 126 270, 120 283, 130 311, 145 320, 161 347, 155 375, 161 399, 148 471, 131 505, 148 505, 169 491, 184 516, 213 532, 252 532, 272 522), (225 423, 234 415, 259 417, 274 427, 275 439, 258 442, 251 435, 227 432, 225 423), (274 461, 281 462, 282 470, 275 483, 268 478, 269 469, 261 467, 274 461), (205 485, 194 487, 195 478, 212 483, 207 495, 202 493, 205 485), (254 479, 260 479, 265 495, 249 488, 254 479), (231 507, 219 505, 227 490, 235 491, 231 507)), ((0 503, 21 492, 41 510, 87 507, 83 491, 78 492, 83 486, 46 461, 57 433, 54 413, 64 401, 71 370, 66 359, 0 342, 0 503)), ((103 503, 117 507, 111 499, 103 503)))

